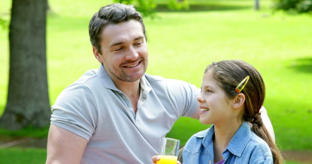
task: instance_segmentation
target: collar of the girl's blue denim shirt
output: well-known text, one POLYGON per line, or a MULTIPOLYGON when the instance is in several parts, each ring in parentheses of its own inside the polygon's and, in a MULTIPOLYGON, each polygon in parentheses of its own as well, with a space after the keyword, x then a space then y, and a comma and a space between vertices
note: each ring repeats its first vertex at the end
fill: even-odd
MULTIPOLYGON (((202 144, 205 148, 208 149, 213 144, 214 134, 215 134, 215 126, 213 125, 206 131, 196 133, 195 137, 203 138, 202 144)), ((250 129, 248 122, 243 122, 222 154, 225 154, 226 150, 229 150, 235 156, 240 157, 251 137, 252 131, 250 129)))

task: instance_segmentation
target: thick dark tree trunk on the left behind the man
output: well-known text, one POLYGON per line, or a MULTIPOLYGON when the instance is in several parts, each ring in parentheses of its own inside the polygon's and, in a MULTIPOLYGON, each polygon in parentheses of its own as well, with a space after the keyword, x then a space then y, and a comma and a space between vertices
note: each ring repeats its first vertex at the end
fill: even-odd
POLYGON ((12 1, 9 87, 1 128, 18 130, 49 125, 46 3, 46 0, 12 1))

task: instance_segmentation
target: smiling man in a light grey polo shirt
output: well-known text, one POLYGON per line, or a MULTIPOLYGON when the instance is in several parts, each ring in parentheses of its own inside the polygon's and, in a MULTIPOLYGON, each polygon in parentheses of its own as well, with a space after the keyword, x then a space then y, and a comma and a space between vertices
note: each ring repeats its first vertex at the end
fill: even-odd
POLYGON ((145 26, 133 6, 102 7, 89 34, 101 65, 68 86, 52 106, 46 163, 149 164, 180 116, 198 119, 199 91, 145 74, 145 26))

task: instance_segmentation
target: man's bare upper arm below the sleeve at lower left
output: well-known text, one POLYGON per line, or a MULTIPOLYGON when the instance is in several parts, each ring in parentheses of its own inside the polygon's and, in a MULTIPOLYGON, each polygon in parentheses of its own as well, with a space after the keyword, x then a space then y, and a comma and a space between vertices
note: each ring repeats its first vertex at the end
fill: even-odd
POLYGON ((46 164, 80 164, 87 143, 85 138, 51 124, 46 164))

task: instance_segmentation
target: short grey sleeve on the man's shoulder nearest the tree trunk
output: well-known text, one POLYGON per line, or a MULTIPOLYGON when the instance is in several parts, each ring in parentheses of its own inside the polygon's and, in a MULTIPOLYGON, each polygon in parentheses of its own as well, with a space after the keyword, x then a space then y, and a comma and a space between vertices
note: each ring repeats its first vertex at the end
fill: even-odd
POLYGON ((52 106, 51 124, 89 141, 96 128, 97 105, 90 90, 74 84, 61 92, 52 106))

